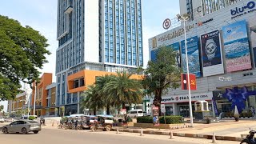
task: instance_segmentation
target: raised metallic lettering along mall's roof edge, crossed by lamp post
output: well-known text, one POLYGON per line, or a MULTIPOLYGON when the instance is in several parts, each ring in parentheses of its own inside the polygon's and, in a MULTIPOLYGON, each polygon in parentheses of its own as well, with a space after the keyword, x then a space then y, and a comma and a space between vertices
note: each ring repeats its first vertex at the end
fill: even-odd
MULTIPOLYGON (((192 24, 190 26, 186 26, 186 31, 189 31, 193 28, 194 28, 194 24, 192 24)), ((158 38, 158 41, 159 42, 164 42, 164 41, 176 38, 178 36, 181 36, 182 34, 184 34, 184 29, 183 28, 175 30, 174 32, 172 32, 170 34, 163 35, 162 37, 158 38)))

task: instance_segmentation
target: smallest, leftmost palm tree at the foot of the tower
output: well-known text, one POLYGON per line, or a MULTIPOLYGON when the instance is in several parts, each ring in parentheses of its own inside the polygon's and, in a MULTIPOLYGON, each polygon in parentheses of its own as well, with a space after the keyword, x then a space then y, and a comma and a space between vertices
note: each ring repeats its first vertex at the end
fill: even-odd
POLYGON ((96 110, 104 107, 104 102, 102 101, 102 98, 98 98, 94 85, 88 86, 88 89, 82 94, 82 96, 84 97, 80 102, 82 108, 93 109, 94 115, 96 115, 96 110))

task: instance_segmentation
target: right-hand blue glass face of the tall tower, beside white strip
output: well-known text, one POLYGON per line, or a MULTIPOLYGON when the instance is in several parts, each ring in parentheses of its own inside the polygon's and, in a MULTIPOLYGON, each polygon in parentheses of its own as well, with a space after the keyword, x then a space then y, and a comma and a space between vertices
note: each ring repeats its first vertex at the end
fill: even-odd
POLYGON ((100 62, 142 66, 141 0, 102 0, 100 21, 104 23, 100 41, 100 62))

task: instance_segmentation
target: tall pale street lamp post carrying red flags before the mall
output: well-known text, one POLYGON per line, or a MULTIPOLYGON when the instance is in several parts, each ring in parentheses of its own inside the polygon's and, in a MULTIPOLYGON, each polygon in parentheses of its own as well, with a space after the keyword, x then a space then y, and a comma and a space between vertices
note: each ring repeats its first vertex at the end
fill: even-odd
POLYGON ((185 53, 186 53, 186 74, 188 79, 188 90, 189 90, 189 105, 190 105, 190 126, 193 126, 193 113, 192 113, 192 102, 191 102, 191 90, 190 90, 190 69, 189 69, 189 60, 187 56, 187 46, 186 46, 186 21, 190 19, 189 14, 177 15, 178 20, 182 20, 184 26, 184 37, 185 37, 185 53))

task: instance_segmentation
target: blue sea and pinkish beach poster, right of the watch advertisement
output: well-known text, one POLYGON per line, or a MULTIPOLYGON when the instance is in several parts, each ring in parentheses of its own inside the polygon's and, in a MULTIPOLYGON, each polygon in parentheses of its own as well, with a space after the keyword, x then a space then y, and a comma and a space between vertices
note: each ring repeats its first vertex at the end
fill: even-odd
POLYGON ((226 71, 251 69, 246 20, 222 27, 226 71))

